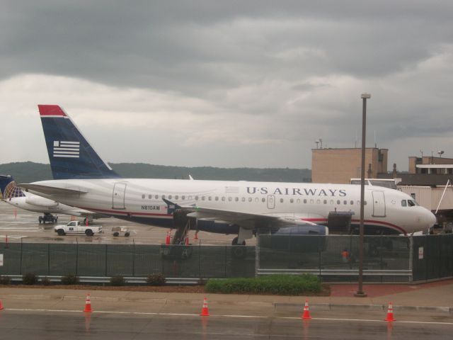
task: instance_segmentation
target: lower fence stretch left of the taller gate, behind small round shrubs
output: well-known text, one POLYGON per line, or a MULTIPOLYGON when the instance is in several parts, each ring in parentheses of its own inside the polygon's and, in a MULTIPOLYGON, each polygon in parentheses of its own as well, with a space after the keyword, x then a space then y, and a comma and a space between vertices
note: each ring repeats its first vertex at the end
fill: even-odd
POLYGON ((255 275, 254 246, 0 243, 0 275, 231 278, 255 275))

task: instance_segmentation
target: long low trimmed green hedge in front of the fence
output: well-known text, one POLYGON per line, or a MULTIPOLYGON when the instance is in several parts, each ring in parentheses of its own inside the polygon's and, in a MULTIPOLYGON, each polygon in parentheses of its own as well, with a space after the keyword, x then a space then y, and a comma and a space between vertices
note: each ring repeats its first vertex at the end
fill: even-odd
POLYGON ((207 293, 254 293, 275 295, 304 295, 321 292, 321 280, 310 274, 298 276, 270 275, 260 278, 210 279, 205 285, 207 293))

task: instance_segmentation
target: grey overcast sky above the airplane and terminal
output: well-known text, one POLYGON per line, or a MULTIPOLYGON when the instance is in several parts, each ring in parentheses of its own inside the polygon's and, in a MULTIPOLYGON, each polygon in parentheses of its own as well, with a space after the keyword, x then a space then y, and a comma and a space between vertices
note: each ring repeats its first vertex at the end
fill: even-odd
POLYGON ((0 163, 48 163, 39 103, 108 162, 311 168, 453 157, 453 1, 1 1, 0 163), (376 137, 375 137, 376 136, 376 137))

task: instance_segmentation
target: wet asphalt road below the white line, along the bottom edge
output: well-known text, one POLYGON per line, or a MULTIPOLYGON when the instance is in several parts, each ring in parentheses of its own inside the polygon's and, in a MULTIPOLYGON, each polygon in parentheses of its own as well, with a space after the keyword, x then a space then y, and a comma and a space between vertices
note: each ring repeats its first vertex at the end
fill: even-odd
POLYGON ((453 324, 379 319, 4 310, 0 339, 452 339, 453 324))

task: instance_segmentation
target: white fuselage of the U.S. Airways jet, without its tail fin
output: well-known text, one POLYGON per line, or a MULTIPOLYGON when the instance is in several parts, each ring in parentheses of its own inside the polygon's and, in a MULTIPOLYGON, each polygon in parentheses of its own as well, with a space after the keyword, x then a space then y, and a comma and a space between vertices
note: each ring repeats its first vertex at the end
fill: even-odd
MULTIPOLYGON (((329 212, 334 211, 351 212, 352 225, 360 219, 360 186, 348 184, 170 179, 69 179, 32 184, 74 190, 39 193, 67 205, 167 227, 171 227, 172 215, 163 198, 185 207, 292 216, 321 225, 326 225, 329 212)), ((401 191, 365 186, 365 226, 407 234, 434 225, 435 216, 429 210, 408 206, 408 200, 412 198, 401 191)))

